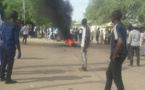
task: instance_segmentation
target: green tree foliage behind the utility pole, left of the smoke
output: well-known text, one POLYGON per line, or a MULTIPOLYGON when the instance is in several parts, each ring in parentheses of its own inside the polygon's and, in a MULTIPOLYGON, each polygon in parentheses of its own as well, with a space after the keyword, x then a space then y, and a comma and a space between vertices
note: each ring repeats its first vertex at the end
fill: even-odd
MULTIPOLYGON (((48 18, 40 15, 41 0, 25 0, 25 15, 26 21, 34 22, 38 25, 48 25, 50 23, 48 18)), ((0 0, 0 9, 5 11, 6 20, 9 19, 9 13, 15 10, 19 14, 19 20, 23 19, 23 0, 0 0)))

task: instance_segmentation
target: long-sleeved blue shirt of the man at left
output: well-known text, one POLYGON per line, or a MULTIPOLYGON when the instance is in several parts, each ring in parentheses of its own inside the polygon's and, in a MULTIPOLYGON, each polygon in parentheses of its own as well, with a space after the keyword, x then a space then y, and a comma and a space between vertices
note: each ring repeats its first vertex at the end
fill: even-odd
POLYGON ((1 26, 2 30, 2 48, 8 52, 16 50, 16 46, 20 49, 19 32, 20 27, 14 22, 5 22, 1 26))

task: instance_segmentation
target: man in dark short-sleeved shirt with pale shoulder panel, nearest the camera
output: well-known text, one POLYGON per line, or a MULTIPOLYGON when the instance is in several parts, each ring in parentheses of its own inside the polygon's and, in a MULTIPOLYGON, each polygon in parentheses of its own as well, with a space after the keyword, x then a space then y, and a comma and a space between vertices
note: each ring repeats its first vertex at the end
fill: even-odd
POLYGON ((105 90, 111 90, 112 80, 114 80, 117 90, 124 90, 122 81, 122 63, 127 56, 126 48, 126 27, 121 22, 122 13, 116 10, 111 15, 111 21, 114 23, 111 40, 110 64, 106 71, 105 90))

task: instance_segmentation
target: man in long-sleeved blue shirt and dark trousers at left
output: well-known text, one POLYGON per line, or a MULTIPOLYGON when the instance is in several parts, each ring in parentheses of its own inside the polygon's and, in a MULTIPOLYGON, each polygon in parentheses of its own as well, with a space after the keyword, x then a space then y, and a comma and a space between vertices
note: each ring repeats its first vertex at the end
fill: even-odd
POLYGON ((18 49, 18 58, 21 57, 21 49, 19 43, 20 27, 16 24, 16 21, 18 19, 18 13, 16 11, 12 11, 10 13, 10 18, 11 18, 10 21, 5 22, 1 26, 3 40, 1 81, 5 81, 6 84, 16 83, 16 81, 11 79, 16 46, 18 49), (5 70, 7 73, 6 77, 5 70))

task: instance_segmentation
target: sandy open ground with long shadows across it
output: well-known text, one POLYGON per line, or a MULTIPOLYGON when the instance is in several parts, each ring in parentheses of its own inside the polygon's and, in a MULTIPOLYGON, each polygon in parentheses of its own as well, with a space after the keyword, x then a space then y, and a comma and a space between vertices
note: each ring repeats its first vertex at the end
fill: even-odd
MULTIPOLYGON (((80 47, 64 42, 29 39, 21 45, 24 58, 16 59, 12 79, 18 83, 0 82, 0 90, 104 90, 110 45, 92 43, 88 49, 88 72, 80 72, 80 47)), ((145 90, 145 57, 141 66, 123 64, 125 90, 145 90)), ((113 83, 111 90, 117 90, 113 83)))

